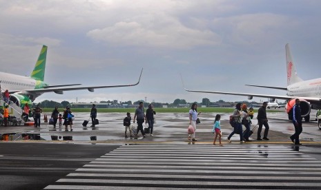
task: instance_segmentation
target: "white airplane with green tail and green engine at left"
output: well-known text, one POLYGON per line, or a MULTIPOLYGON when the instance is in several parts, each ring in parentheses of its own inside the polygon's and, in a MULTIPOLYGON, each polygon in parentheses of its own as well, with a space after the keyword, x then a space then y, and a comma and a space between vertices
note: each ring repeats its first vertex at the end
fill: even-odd
POLYGON ((64 91, 88 89, 89 92, 94 92, 94 89, 110 88, 110 87, 130 87, 139 84, 142 76, 140 72, 138 82, 131 85, 103 85, 103 86, 86 86, 86 87, 70 87, 80 84, 68 84, 68 85, 48 85, 43 79, 46 70, 46 56, 48 47, 43 45, 41 52, 35 64, 35 68, 27 76, 19 76, 17 74, 9 74, 6 72, 0 72, 0 87, 1 92, 8 89, 10 93, 10 101, 17 106, 22 107, 26 103, 31 104, 38 96, 45 92, 55 92, 56 94, 64 94, 64 91))

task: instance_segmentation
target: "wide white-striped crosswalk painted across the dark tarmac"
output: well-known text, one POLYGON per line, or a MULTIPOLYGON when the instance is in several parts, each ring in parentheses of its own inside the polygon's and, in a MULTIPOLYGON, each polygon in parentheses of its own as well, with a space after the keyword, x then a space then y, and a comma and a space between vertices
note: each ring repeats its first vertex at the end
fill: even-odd
POLYGON ((124 145, 45 189, 321 189, 321 161, 282 145, 124 145))

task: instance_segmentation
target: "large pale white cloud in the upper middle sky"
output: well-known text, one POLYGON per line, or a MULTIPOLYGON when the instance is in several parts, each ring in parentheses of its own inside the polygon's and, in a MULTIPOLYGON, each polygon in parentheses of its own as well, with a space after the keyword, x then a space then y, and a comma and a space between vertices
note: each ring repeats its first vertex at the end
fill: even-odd
POLYGON ((88 32, 90 38, 108 44, 138 47, 190 49, 195 46, 217 45, 220 36, 210 30, 186 28, 177 21, 156 28, 157 23, 142 25, 137 22, 119 22, 113 26, 88 32))

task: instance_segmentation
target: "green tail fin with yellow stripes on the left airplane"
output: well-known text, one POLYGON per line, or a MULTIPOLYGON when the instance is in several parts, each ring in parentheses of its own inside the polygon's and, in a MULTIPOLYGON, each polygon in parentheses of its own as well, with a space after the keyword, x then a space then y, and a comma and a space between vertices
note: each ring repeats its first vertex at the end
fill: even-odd
POLYGON ((47 49, 48 47, 46 45, 42 46, 35 68, 30 75, 31 78, 43 81, 45 77, 47 49))

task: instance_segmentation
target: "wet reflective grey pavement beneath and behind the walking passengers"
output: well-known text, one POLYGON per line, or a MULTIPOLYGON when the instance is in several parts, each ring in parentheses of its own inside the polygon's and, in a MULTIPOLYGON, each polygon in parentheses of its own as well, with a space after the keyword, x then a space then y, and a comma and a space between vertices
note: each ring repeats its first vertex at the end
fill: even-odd
MULTIPOLYGON (((50 113, 44 113, 50 116, 50 113)), ((139 133, 137 138, 125 138, 123 119, 126 116, 124 113, 99 113, 99 125, 90 127, 91 120, 87 127, 83 127, 84 120, 88 120, 88 113, 74 113, 75 120, 72 125, 73 131, 65 131, 64 126, 56 129, 52 125, 43 122, 43 114, 41 116, 41 127, 35 128, 33 126, 10 126, 0 127, 0 134, 8 134, 4 141, 23 141, 23 142, 79 142, 79 143, 191 143, 187 140, 187 127, 189 124, 188 114, 186 113, 157 113, 155 115, 156 123, 154 126, 154 136, 147 135, 142 137, 139 133)), ((197 144, 213 143, 213 120, 218 113, 202 113, 200 114, 201 123, 197 125, 196 138, 197 144)), ((133 115, 133 114, 132 114, 133 115)), ((230 114, 221 114, 221 128, 223 140, 226 143, 226 137, 233 131, 233 128, 228 123, 230 114)), ((133 116, 132 116, 133 118, 133 116)), ((281 113, 268 113, 269 118, 269 141, 256 141, 257 131, 251 136, 253 142, 251 143, 291 143, 289 136, 294 133, 294 127, 287 115, 281 113)), ((133 120, 132 120, 133 123, 133 120)), ((257 123, 253 120, 252 127, 257 123)), ((136 124, 133 124, 136 126, 136 124)), ((144 127, 148 125, 144 124, 144 127)), ((264 129, 262 130, 263 134, 264 129)), ((310 123, 303 123, 303 132, 300 135, 302 143, 321 144, 321 130, 317 123, 312 121, 310 123)), ((231 140, 232 143, 238 143, 239 136, 234 135, 231 140)))

